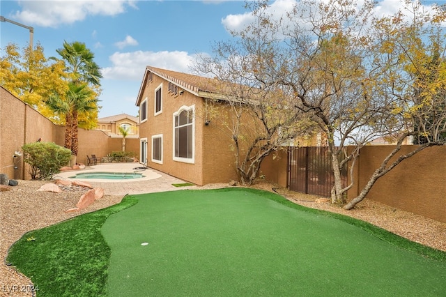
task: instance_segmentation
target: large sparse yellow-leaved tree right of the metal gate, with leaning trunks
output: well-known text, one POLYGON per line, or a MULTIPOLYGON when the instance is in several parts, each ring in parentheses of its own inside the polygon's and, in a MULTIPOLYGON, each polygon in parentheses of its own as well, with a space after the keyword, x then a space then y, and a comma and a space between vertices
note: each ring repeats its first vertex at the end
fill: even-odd
MULTIPOLYGON (((443 144, 443 139, 433 136, 414 151, 398 155, 406 137, 441 135, 446 114, 438 109, 444 106, 444 97, 429 93, 433 82, 426 85, 428 80, 420 79, 426 65, 417 59, 417 55, 426 56, 422 40, 433 32, 425 25, 430 22, 438 27, 444 12, 437 9, 428 15, 420 11, 422 6, 406 2, 414 12, 410 21, 402 12, 375 17, 375 3, 369 0, 362 1, 360 7, 353 0, 302 0, 279 18, 268 13, 266 1, 249 2, 247 7, 256 22, 232 32, 235 40, 217 43, 216 57, 202 59, 199 70, 268 94, 261 106, 277 106, 277 98, 271 94, 279 90, 284 97, 280 97, 279 108, 272 108, 277 112, 275 116, 299 114, 290 119, 305 119, 305 114, 307 125, 295 125, 295 130, 302 133, 312 123, 324 132, 334 173, 332 203, 346 203, 346 191, 356 183, 353 168, 360 148, 376 137, 397 137, 392 153, 360 195, 345 206, 350 209, 399 162, 426 147, 443 144), (411 40, 417 41, 416 49, 411 40), (424 93, 422 99, 420 91, 424 93), (351 145, 353 148, 347 149, 351 145), (350 167, 351 183, 344 187, 341 170, 346 165, 350 167)), ((443 59, 438 61, 443 67, 443 59)), ((438 81, 441 74, 437 75, 438 81)), ((438 95, 438 91, 434 93, 438 95)), ((286 123, 280 127, 285 128, 286 123)))

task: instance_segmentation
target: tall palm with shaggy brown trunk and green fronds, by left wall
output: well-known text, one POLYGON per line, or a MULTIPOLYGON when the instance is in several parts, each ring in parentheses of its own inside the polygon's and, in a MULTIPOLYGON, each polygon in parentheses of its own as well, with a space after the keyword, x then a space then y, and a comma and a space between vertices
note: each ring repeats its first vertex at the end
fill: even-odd
MULTIPOLYGON (((100 67, 93 61, 94 54, 84 43, 75 41, 63 43, 63 48, 56 50, 66 63, 70 91, 66 96, 66 104, 70 111, 63 112, 66 117, 66 148, 70 148, 74 155, 78 151, 78 114, 96 108, 98 102, 95 93, 89 86, 100 86, 100 67)), ((62 107, 62 105, 60 105, 62 107)), ((67 108, 67 107, 63 107, 67 108)))

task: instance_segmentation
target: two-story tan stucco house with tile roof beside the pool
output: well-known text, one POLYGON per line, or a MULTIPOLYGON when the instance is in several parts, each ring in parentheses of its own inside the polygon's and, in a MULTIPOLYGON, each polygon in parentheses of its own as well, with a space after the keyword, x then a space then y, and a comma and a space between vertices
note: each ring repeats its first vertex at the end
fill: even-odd
POLYGON ((146 67, 136 102, 139 160, 197 185, 237 181, 231 137, 206 117, 209 100, 227 100, 222 89, 217 79, 146 67))

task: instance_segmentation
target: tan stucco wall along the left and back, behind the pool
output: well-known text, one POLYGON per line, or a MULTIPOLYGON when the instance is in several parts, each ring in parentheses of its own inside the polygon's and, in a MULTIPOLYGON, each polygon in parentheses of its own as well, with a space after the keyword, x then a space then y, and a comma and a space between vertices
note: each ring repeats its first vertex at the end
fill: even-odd
MULTIPOLYGON (((13 155, 15 151, 22 152, 24 144, 38 139, 63 146, 65 127, 54 125, 0 86, 0 173, 8 174, 10 179, 30 179, 22 157, 17 158, 17 169, 14 169, 13 155)), ((86 155, 103 157, 112 151, 122 151, 122 138, 109 137, 100 130, 79 129, 77 163, 87 164, 86 155)), ((126 138, 125 151, 132 151, 138 156, 139 139, 126 138)))

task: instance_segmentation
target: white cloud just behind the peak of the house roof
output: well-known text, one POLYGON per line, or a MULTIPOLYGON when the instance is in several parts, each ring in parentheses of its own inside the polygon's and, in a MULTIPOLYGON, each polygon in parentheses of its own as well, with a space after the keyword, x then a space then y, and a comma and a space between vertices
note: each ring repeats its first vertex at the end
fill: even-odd
POLYGON ((104 79, 140 82, 146 66, 188 73, 193 59, 194 55, 179 51, 115 52, 112 56, 109 56, 112 66, 102 69, 102 76, 104 79))

